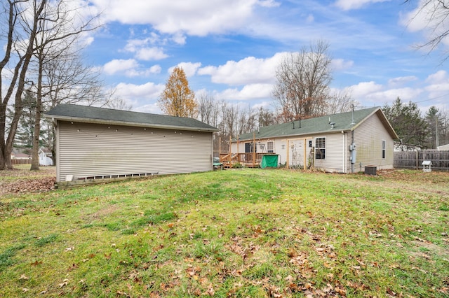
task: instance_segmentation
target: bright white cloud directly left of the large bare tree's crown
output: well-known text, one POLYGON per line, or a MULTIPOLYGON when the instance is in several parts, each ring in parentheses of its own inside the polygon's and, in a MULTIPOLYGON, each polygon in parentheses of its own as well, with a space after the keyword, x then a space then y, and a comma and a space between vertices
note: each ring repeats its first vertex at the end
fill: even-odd
POLYGON ((238 62, 228 61, 220 66, 206 66, 199 69, 199 75, 210 75, 213 83, 245 85, 254 83, 274 83, 276 67, 285 53, 260 59, 246 57, 238 62))

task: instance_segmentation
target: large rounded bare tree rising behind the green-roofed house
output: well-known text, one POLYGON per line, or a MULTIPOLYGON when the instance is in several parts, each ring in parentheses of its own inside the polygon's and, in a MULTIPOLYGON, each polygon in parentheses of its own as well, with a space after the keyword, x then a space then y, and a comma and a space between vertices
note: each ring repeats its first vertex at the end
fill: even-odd
POLYGON ((332 81, 328 49, 328 43, 318 41, 284 57, 279 64, 273 96, 284 121, 326 113, 332 81))

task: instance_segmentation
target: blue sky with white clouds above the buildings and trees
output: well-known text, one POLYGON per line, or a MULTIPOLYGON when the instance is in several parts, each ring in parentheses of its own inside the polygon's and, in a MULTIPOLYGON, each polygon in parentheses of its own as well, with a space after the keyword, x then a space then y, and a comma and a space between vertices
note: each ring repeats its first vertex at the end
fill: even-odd
POLYGON ((276 66, 286 52, 330 45, 335 90, 359 106, 396 97, 448 111, 449 41, 418 50, 429 34, 420 0, 91 0, 105 27, 86 59, 134 111, 161 113, 156 102, 174 66, 197 95, 242 107, 271 108, 276 66))

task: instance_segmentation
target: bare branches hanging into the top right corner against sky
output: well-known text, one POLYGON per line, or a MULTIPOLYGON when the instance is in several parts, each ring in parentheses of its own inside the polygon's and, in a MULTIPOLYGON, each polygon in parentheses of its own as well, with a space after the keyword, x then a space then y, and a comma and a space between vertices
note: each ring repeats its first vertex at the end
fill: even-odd
MULTIPOLYGON (((404 0, 405 3, 411 3, 414 0, 404 0)), ((419 1, 419 6, 410 20, 418 20, 424 17, 430 35, 420 48, 429 48, 429 52, 435 50, 438 45, 443 43, 445 38, 449 36, 449 3, 447 0, 423 0, 419 1)), ((446 51, 443 57, 443 62, 449 58, 449 52, 446 51)))

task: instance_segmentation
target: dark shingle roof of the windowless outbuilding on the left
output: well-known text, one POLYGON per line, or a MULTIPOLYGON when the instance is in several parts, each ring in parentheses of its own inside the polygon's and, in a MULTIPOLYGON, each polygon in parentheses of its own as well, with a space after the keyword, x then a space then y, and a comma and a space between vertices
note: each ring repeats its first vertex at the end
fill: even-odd
POLYGON ((121 111, 94 106, 79 106, 76 104, 60 104, 45 113, 43 117, 88 123, 196 130, 201 132, 218 131, 217 128, 193 118, 121 111))

